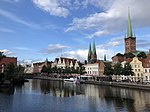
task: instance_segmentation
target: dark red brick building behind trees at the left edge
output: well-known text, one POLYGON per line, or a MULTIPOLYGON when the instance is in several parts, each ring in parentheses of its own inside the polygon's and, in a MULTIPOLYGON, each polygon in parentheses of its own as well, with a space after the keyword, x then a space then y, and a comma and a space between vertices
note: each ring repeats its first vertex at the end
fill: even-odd
POLYGON ((17 66, 17 58, 14 57, 3 57, 0 59, 0 72, 3 73, 6 65, 9 63, 13 63, 15 66, 17 66))

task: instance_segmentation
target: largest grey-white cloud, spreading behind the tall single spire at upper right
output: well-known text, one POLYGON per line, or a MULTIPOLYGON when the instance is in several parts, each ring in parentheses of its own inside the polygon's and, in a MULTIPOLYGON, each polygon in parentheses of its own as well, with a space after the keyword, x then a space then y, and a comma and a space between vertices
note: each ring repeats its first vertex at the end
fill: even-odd
MULTIPOLYGON (((92 0, 86 1, 89 3, 92 0)), ((105 4, 110 3, 107 0, 105 4)), ((91 14, 84 18, 74 18, 66 32, 73 30, 88 31, 92 29, 94 31, 89 37, 93 38, 126 31, 128 7, 130 7, 133 29, 149 27, 150 13, 147 12, 150 10, 149 4, 149 0, 114 0, 111 6, 107 7, 104 12, 91 14)))

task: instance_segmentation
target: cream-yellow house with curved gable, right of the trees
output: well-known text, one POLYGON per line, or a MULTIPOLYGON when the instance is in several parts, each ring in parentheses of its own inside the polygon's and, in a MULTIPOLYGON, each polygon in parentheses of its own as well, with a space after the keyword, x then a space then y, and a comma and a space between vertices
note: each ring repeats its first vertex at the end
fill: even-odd
POLYGON ((143 65, 142 61, 138 59, 138 57, 134 57, 133 60, 130 62, 134 76, 133 76, 133 81, 140 81, 143 82, 143 65))

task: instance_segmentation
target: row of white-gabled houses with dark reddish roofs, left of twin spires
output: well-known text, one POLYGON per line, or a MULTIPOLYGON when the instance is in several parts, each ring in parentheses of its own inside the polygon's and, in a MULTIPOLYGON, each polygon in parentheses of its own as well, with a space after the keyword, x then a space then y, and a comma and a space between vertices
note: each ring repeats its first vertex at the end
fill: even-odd
POLYGON ((70 59, 70 58, 64 58, 64 57, 59 57, 59 58, 56 58, 52 67, 57 67, 57 68, 74 68, 74 69, 77 69, 80 67, 80 62, 77 61, 76 59, 70 59))

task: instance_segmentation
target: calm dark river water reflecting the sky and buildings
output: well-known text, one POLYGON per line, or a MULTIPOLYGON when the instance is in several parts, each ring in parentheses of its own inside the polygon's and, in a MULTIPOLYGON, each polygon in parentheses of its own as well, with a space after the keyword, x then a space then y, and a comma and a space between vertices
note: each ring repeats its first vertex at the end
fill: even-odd
POLYGON ((0 92, 0 112, 150 112, 150 91, 34 79, 0 92))

